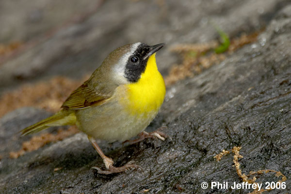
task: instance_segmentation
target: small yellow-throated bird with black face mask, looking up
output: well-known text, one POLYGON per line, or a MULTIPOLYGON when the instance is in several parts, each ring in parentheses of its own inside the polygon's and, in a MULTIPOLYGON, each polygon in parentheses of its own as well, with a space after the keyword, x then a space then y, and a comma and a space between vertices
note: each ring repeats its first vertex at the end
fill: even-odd
MULTIPOLYGON (((30 127, 23 135, 53 126, 76 125, 103 159, 107 170, 101 174, 139 168, 134 162, 114 167, 95 139, 125 141, 143 132, 157 115, 165 96, 165 84, 158 71, 155 53, 165 44, 148 46, 133 43, 115 49, 94 71, 89 80, 64 102, 62 110, 30 127)), ((154 133, 163 138, 162 133, 154 133)))

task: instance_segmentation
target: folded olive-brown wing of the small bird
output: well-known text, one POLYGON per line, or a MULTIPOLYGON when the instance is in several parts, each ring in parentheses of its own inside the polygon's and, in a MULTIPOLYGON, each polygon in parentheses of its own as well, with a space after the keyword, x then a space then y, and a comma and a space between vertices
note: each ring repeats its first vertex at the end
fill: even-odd
POLYGON ((110 97, 108 94, 96 91, 94 87, 90 86, 89 81, 85 81, 65 100, 61 108, 84 109, 103 104, 110 97))

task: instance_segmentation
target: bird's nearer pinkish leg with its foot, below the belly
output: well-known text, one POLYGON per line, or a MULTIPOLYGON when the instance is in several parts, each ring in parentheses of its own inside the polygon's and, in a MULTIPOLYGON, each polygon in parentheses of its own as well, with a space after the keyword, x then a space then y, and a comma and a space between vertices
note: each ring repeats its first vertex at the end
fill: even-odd
POLYGON ((129 170, 129 168, 135 168, 135 169, 140 168, 141 170, 143 170, 139 165, 136 165, 134 161, 130 161, 121 167, 114 167, 113 160, 111 158, 105 156, 105 154, 102 152, 101 148, 97 145, 96 140, 90 135, 88 135, 88 139, 91 142, 91 144, 93 145, 93 147, 96 149, 96 151, 98 152, 100 157, 102 158, 102 160, 105 164, 105 167, 107 168, 107 170, 101 170, 97 166, 92 167, 93 169, 96 169, 99 174, 109 175, 112 173, 120 173, 120 172, 124 172, 126 170, 129 170))

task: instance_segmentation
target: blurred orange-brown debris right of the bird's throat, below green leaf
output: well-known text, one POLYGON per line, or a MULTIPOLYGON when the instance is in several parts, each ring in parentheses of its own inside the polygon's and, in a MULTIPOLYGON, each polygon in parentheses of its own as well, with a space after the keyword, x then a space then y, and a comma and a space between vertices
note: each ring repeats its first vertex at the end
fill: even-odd
POLYGON ((240 37, 234 38, 230 41, 227 52, 222 54, 214 52, 214 49, 219 45, 218 41, 203 44, 181 44, 172 47, 170 50, 182 57, 182 63, 173 65, 170 69, 169 75, 165 78, 166 85, 171 85, 187 77, 193 77, 195 74, 201 73, 202 70, 220 63, 226 59, 227 54, 232 54, 245 44, 255 42, 259 33, 242 34, 240 37))

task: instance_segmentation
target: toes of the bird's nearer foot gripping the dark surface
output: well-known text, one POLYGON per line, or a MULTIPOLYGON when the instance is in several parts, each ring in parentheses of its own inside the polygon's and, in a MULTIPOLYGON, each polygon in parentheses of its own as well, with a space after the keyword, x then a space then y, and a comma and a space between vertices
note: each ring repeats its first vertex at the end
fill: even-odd
MULTIPOLYGON (((107 166, 106 166, 106 168, 107 168, 107 166)), ((110 164, 110 166, 108 166, 107 170, 101 170, 97 166, 92 167, 92 169, 96 169, 97 170, 97 173, 105 174, 105 175, 109 175, 109 174, 113 174, 113 173, 125 172, 125 171, 129 170, 130 168, 141 169, 143 171, 142 167, 140 167, 139 165, 135 164, 134 161, 130 161, 127 164, 125 164, 124 166, 121 166, 121 167, 114 167, 113 164, 110 164)))

